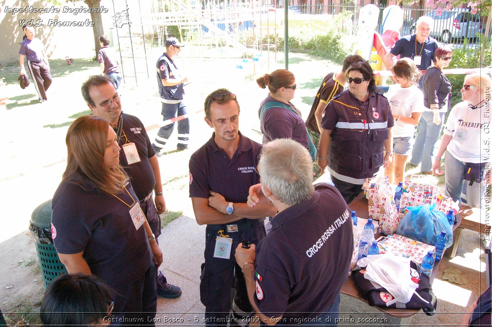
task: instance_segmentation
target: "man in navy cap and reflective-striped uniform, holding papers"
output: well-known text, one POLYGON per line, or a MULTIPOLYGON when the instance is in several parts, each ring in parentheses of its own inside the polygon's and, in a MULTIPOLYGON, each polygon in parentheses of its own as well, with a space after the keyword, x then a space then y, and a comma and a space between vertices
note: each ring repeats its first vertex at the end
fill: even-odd
MULTIPOLYGON (((182 76, 173 58, 181 52, 184 44, 180 43, 176 37, 169 37, 166 40, 166 52, 157 59, 157 85, 159 87, 160 101, 162 102, 161 115, 163 120, 183 116, 187 114, 186 105, 183 101, 184 83, 188 78, 182 76)), ((162 148, 173 133, 174 122, 162 126, 157 132, 154 147, 157 156, 162 155, 162 148)), ((178 150, 188 147, 189 140, 189 119, 185 118, 178 121, 178 150)))

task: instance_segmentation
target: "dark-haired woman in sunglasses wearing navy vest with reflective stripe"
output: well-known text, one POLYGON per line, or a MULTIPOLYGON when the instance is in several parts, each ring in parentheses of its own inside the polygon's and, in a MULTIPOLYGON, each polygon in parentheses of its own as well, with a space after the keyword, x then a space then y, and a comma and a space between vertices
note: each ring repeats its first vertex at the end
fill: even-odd
POLYGON ((321 118, 319 167, 328 168, 347 204, 393 159, 393 116, 388 100, 376 90, 369 61, 347 70, 348 90, 333 97, 321 118))

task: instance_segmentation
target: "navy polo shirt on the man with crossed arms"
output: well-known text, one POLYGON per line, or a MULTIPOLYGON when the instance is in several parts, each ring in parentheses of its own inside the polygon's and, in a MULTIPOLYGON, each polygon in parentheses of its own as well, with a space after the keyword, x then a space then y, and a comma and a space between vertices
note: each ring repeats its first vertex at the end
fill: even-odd
POLYGON ((260 182, 255 168, 261 145, 239 133, 240 143, 232 159, 219 149, 212 138, 189 159, 190 198, 210 197, 212 190, 228 202, 246 203, 249 187, 260 182))

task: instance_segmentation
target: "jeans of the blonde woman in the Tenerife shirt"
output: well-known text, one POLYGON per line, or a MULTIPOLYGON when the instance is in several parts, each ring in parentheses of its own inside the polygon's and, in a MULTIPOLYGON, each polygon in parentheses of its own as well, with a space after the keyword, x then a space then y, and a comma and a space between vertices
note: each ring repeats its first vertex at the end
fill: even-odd
POLYGON ((453 201, 461 201, 461 190, 466 189, 466 204, 469 207, 484 208, 484 195, 487 191, 485 178, 480 183, 469 185, 469 180, 464 180, 465 162, 456 159, 449 151, 446 151, 444 171, 446 173, 446 189, 444 195, 453 198, 453 201), (464 183, 464 185, 463 185, 464 183))

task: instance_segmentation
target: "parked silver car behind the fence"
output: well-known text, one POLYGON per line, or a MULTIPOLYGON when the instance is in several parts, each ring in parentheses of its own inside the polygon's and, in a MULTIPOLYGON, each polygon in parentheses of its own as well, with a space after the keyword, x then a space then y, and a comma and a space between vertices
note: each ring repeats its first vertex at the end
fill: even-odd
MULTIPOLYGON (((476 33, 482 31, 482 23, 479 14, 472 14, 468 9, 456 8, 452 11, 443 11, 437 16, 432 10, 426 16, 433 19, 431 36, 440 37, 443 43, 449 43, 453 38, 476 37, 476 33)), ((410 34, 415 33, 415 24, 410 28, 410 34)))

